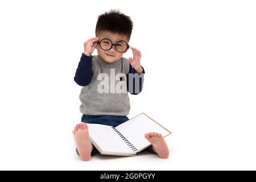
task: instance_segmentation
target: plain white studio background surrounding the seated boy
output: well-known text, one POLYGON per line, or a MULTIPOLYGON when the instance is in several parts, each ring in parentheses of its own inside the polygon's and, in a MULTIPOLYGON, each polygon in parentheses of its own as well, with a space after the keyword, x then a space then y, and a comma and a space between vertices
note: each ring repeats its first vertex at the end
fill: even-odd
POLYGON ((255 9, 255 1, 1 1, 0 169, 255 170, 255 9), (130 45, 146 70, 129 117, 144 112, 172 131, 168 159, 82 162, 75 153, 73 77, 97 16, 110 9, 133 19, 130 45))

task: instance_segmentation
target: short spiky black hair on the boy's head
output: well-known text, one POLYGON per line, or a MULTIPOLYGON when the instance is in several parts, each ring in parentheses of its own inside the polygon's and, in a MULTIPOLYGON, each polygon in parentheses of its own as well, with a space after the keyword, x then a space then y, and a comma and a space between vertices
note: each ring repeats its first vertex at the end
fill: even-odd
POLYGON ((110 10, 98 16, 95 30, 96 36, 100 31, 118 33, 130 39, 133 31, 133 21, 129 16, 119 12, 119 10, 110 10))

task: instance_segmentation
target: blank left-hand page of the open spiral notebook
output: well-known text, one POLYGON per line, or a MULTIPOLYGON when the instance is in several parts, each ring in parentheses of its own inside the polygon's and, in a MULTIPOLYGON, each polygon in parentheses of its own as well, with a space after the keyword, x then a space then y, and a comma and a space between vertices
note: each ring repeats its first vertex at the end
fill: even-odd
POLYGON ((131 155, 136 154, 123 140, 115 133, 112 126, 87 124, 90 140, 96 144, 104 154, 131 155))

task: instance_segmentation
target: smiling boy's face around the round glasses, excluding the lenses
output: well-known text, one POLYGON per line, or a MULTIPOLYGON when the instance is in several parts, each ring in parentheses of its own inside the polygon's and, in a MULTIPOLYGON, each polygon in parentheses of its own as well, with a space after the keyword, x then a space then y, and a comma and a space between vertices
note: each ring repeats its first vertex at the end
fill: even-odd
MULTIPOLYGON (((100 31, 100 33, 98 34, 98 38, 99 42, 102 39, 110 39, 112 41, 113 44, 119 42, 119 40, 125 40, 126 43, 129 42, 129 39, 127 38, 127 36, 125 35, 120 35, 117 33, 113 33, 113 32, 109 32, 109 31, 100 31)), ((100 44, 97 44, 97 51, 98 51, 98 56, 100 57, 100 59, 102 61, 106 61, 108 63, 113 63, 114 61, 117 61, 119 59, 121 59, 121 57, 123 56, 123 54, 125 52, 127 52, 127 49, 125 52, 118 52, 115 49, 115 46, 112 46, 111 49, 109 49, 108 51, 104 51, 101 47, 100 44)))

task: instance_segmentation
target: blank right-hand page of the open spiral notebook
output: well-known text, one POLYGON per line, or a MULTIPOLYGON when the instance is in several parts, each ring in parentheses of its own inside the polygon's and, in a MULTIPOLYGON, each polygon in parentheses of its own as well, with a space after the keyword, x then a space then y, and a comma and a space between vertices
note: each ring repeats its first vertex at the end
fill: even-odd
POLYGON ((143 113, 122 123, 121 125, 118 125, 115 129, 117 129, 138 150, 141 150, 150 144, 150 142, 148 142, 144 137, 146 133, 160 133, 163 137, 170 134, 167 130, 163 129, 162 126, 143 113))

